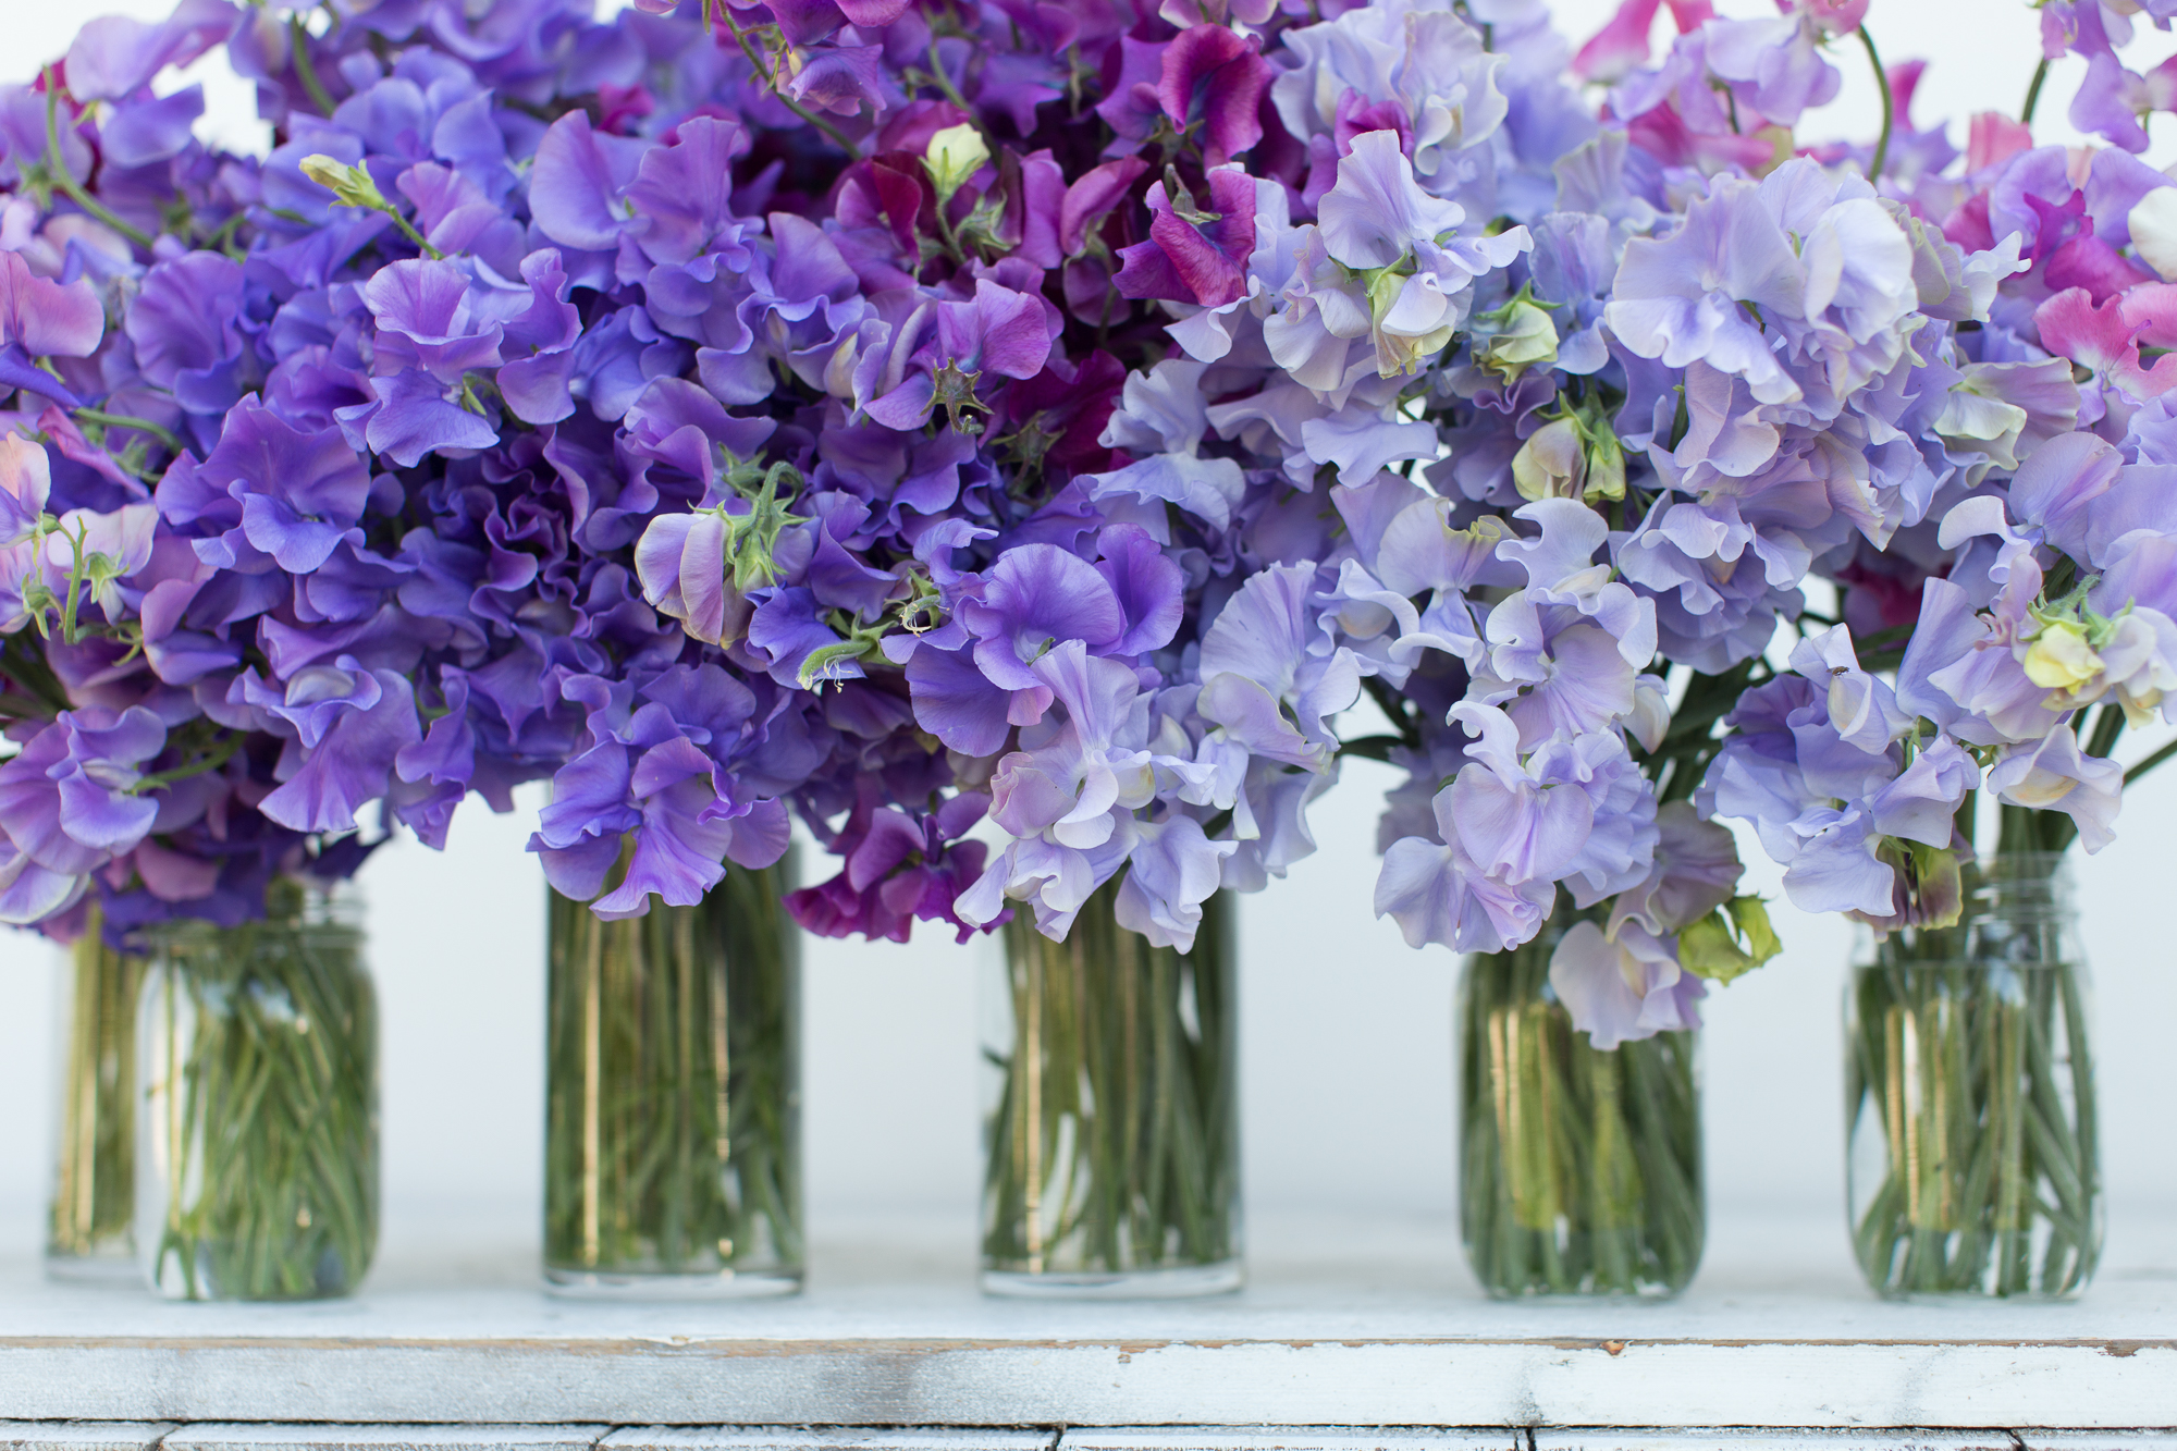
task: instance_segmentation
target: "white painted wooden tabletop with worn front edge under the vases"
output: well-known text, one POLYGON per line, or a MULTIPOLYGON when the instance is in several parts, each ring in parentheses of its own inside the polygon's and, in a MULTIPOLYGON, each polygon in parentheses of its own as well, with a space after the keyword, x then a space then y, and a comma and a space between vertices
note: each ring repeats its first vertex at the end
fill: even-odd
MULTIPOLYGON (((165 1451, 588 1451, 612 1427, 653 1423, 1539 1427, 1278 1434, 1252 1451, 1685 1451, 1718 1442, 1613 1427, 1977 1427, 1822 1444, 2038 1451, 2044 1427, 2177 1427, 2177 1220, 2123 1220, 2073 1305, 1885 1305, 1859 1288, 1829 1216, 1718 1216, 1700 1279, 1668 1305, 1489 1303, 1441 1222, 1267 1218, 1250 1237, 1245 1292, 1134 1305, 988 1301, 971 1242, 927 1222, 825 1227, 805 1296, 710 1305, 551 1301, 520 1248, 457 1220, 431 1242, 388 1244, 361 1296, 318 1305, 168 1305, 0 1259, 0 1416, 155 1423, 137 1440, 15 1436, 46 1451, 139 1451, 161 1436, 165 1451), (470 1429, 372 1442, 357 1423, 470 1429), (531 1429, 485 1429, 509 1423, 531 1429)), ((688 1451, 627 1436, 612 1431, 625 1451, 688 1451)), ((1232 1429, 1095 1436, 1069 1431, 1060 1451, 1250 1451, 1232 1429)), ((0 1451, 9 1438, 0 1427, 0 1451)), ((849 1442, 884 1438, 764 1431, 753 1444, 849 1442)), ((2055 1438, 2049 1451, 2149 1444, 2177 1451, 2140 1436, 2055 1438)))

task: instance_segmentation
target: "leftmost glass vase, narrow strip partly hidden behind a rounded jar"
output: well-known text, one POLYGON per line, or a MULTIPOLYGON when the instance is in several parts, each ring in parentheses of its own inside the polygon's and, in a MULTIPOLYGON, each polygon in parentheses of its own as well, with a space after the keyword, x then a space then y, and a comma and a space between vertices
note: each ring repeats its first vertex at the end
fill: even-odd
POLYGON ((46 1272, 135 1281, 137 993, 144 959, 104 941, 94 904, 63 954, 61 1139, 52 1176, 46 1272))

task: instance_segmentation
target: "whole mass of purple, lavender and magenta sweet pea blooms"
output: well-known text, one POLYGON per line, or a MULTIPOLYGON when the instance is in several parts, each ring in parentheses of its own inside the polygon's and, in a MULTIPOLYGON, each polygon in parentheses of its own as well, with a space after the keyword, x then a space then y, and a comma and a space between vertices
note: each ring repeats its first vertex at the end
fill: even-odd
POLYGON ((549 780, 605 917, 799 815, 810 930, 1184 950, 1358 754, 1376 911, 1554 922, 1613 1046, 1776 950, 1718 817, 1877 924, 1975 791, 2099 848, 2177 686, 2177 0, 2042 7, 2112 148, 1966 157, 1916 65, 1794 144, 1866 0, 1659 4, 91 22, 0 89, 0 919, 239 922, 549 780), (216 46, 263 159, 152 87, 216 46))

